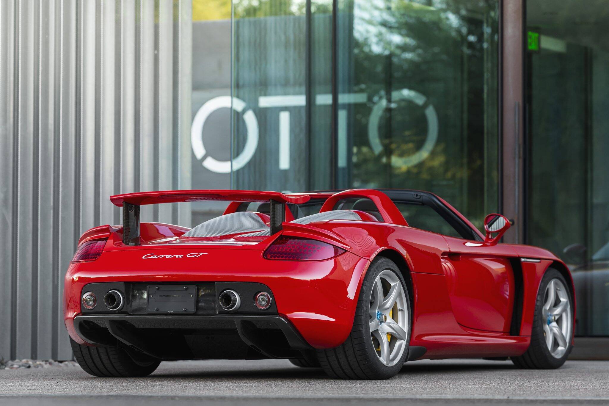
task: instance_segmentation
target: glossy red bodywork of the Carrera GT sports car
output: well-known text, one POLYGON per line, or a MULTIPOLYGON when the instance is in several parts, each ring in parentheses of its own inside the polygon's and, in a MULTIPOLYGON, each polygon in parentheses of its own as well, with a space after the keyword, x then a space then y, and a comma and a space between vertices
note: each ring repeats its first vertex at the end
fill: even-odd
MULTIPOLYGON (((133 204, 157 203, 163 195, 171 196, 167 200, 184 201, 185 196, 200 198, 207 193, 219 195, 217 200, 237 199, 237 203, 228 206, 227 214, 237 211, 240 202, 257 201, 247 199, 264 193, 196 192, 198 197, 188 197, 193 191, 147 192, 139 197, 129 194, 113 197, 113 203, 118 205, 121 199, 133 204)), ((443 200, 475 230, 481 241, 407 226, 392 201, 378 191, 356 189, 308 195, 269 193, 284 203, 307 201, 309 195, 326 198, 322 212, 331 210, 345 197, 368 197, 379 208, 384 208, 381 214, 385 222, 283 223, 280 234, 319 240, 345 250, 324 261, 265 259, 264 251, 279 234, 233 237, 232 243, 222 246, 214 245, 213 239, 189 238, 187 245, 181 245, 183 239, 180 237, 189 228, 141 223, 141 245, 132 247, 122 242, 121 226, 93 228, 83 234, 79 244, 108 238, 103 254, 96 261, 71 264, 65 277, 65 324, 70 336, 78 343, 85 343, 74 329, 73 321, 81 313, 82 289, 91 282, 258 282, 269 287, 275 296, 278 315, 288 320, 309 345, 333 348, 350 334, 361 281, 371 261, 381 255, 399 259, 406 267, 404 271, 411 280, 413 304, 410 345, 426 348, 422 358, 521 355, 530 343, 541 278, 552 264, 565 267, 557 257, 541 248, 485 243, 484 236, 443 200), (188 257, 189 253, 203 252, 206 254, 202 257, 188 257), (181 257, 143 258, 165 253, 181 257), (538 262, 523 262, 523 258, 538 262), (521 272, 523 288, 519 303, 515 303, 519 297, 517 272, 521 272), (518 314, 514 310, 517 307, 520 309, 518 314), (516 317, 519 320, 514 324, 516 317), (513 325, 519 326, 517 332, 513 331, 513 325)), ((572 280, 568 281, 572 289, 572 280)))

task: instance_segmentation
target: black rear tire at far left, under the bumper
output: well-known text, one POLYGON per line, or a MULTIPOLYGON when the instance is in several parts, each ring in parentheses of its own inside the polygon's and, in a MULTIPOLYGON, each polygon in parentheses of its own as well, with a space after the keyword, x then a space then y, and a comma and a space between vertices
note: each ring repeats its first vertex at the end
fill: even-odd
POLYGON ((74 358, 86 373, 99 377, 136 377, 152 374, 161 360, 142 354, 135 362, 118 347, 80 345, 70 338, 74 358))

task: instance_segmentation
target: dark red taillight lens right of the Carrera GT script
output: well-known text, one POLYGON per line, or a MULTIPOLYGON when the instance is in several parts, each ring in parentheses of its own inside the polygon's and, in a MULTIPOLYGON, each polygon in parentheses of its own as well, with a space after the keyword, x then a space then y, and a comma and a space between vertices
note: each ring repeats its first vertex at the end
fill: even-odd
POLYGON ((295 237, 279 237, 266 251, 266 259, 286 259, 288 261, 320 261, 330 259, 345 252, 325 242, 295 237))

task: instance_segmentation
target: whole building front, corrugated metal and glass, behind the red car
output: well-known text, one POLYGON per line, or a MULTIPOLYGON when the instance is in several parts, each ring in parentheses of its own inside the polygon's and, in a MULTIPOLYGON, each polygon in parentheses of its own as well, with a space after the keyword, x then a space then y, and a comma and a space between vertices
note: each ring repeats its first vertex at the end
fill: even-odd
POLYGON ((154 189, 423 189, 479 227, 510 212, 506 239, 571 267, 576 334, 609 336, 605 3, 0 2, 0 357, 70 356, 60 281, 78 236, 121 222, 109 195, 154 189), (515 44, 523 64, 501 56, 515 44))

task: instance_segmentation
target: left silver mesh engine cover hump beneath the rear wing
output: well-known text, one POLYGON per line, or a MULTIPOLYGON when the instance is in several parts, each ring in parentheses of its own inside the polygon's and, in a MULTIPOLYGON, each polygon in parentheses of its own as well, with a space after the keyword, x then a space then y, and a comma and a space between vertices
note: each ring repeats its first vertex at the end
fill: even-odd
POLYGON ((261 216, 250 211, 239 211, 207 220, 186 232, 183 237, 218 237, 268 229, 261 216))

